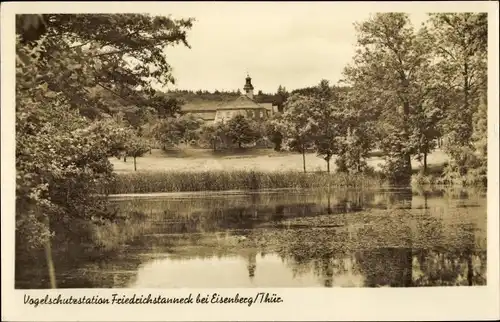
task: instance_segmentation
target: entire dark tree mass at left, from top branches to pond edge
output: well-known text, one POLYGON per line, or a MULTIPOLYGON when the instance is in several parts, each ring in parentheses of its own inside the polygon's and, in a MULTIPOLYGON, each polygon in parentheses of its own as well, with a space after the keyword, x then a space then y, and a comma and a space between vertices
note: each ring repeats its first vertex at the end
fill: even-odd
POLYGON ((113 218, 105 194, 120 126, 90 89, 147 106, 151 78, 173 80, 163 47, 185 42, 190 26, 147 15, 16 16, 17 249, 50 253, 52 237, 79 238, 67 232, 113 218))

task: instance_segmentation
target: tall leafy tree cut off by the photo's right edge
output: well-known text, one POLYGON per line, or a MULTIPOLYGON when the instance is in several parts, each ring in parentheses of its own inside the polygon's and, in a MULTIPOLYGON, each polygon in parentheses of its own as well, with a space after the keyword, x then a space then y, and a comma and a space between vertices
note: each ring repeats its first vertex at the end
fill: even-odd
POLYGON ((441 128, 451 157, 444 180, 486 184, 487 109, 481 99, 487 84, 487 15, 431 14, 427 27, 436 56, 436 83, 446 93, 437 102, 446 105, 441 128))

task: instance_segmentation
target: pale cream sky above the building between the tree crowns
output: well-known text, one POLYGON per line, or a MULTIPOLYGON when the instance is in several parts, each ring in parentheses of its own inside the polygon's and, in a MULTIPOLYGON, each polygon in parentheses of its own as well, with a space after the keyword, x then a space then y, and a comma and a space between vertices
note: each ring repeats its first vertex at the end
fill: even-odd
MULTIPOLYGON (((276 92, 314 86, 321 79, 336 83, 355 50, 353 23, 377 12, 377 3, 238 2, 175 3, 161 13, 193 17, 191 49, 165 51, 176 85, 198 90, 242 89, 252 77, 254 91, 276 92)), ((412 11, 420 25, 425 12, 412 11)))

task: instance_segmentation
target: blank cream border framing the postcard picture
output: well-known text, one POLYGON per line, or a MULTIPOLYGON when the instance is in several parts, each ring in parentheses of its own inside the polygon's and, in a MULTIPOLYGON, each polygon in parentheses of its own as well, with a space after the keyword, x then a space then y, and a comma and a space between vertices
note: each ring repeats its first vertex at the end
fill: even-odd
MULTIPOLYGON (((197 290, 14 290, 14 201, 15 201, 15 63, 14 15, 16 13, 111 13, 157 12, 172 8, 173 2, 22 2, 1 6, 1 134, 2 134, 2 320, 36 321, 159 321, 159 320, 468 320, 499 318, 499 109, 498 109, 498 3, 470 2, 336 2, 308 3, 331 6, 332 19, 346 8, 372 8, 373 12, 459 12, 489 13, 488 61, 488 285, 485 287, 434 287, 415 289, 232 289, 198 290, 252 296, 257 292, 277 293, 284 303, 273 305, 119 305, 119 306, 32 306, 23 304, 24 294, 87 295, 112 293, 183 296, 197 290)), ((183 5, 186 5, 184 3, 183 5)), ((191 3, 193 6, 282 6, 300 10, 304 3, 191 3)), ((258 14, 256 15, 258 20, 258 14)))

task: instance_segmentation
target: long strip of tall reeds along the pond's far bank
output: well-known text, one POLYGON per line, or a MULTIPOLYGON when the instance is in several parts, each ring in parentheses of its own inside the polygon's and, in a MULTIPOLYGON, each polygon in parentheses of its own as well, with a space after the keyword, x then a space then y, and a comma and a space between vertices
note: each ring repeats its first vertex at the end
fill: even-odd
POLYGON ((363 174, 300 173, 295 171, 137 172, 118 174, 110 194, 307 189, 327 187, 380 187, 384 182, 363 174))

